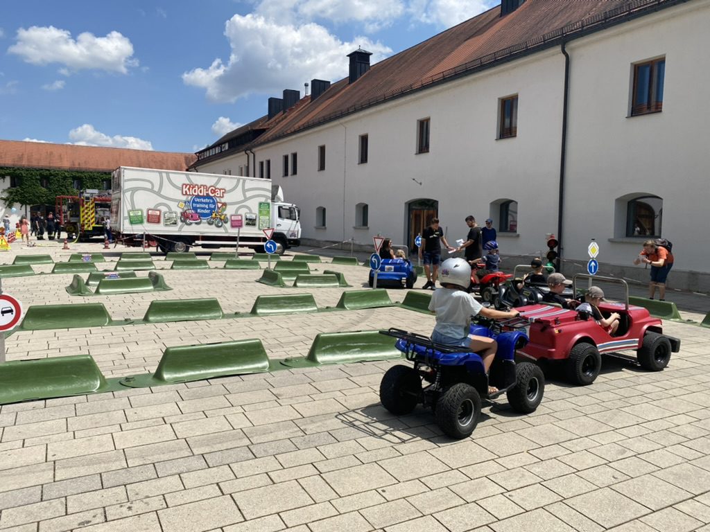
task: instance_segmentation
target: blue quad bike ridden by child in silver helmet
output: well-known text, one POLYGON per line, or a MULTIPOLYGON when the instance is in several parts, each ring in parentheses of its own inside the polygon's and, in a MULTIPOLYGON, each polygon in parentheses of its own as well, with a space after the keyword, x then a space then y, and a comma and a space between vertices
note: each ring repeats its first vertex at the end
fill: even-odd
POLYGON ((464 348, 441 345, 431 338, 397 328, 380 331, 398 338, 395 343, 414 367, 391 367, 380 383, 382 405, 397 416, 410 414, 417 404, 431 407, 437 425, 451 438, 468 438, 481 415, 481 400, 506 394, 513 410, 530 414, 545 393, 545 376, 530 362, 515 363, 515 351, 525 347, 525 318, 494 321, 478 318, 471 334, 488 336, 498 352, 486 375, 481 357, 464 348), (498 392, 488 394, 488 386, 498 392))

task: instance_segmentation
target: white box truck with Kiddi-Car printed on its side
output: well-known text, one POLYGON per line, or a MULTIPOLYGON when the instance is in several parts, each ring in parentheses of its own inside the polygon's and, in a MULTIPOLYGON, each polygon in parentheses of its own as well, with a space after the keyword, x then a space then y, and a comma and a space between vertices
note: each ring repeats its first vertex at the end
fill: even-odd
POLYGON ((126 243, 163 253, 239 245, 263 252, 273 228, 277 253, 300 245, 299 209, 270 179, 119 167, 111 176, 111 228, 126 243))

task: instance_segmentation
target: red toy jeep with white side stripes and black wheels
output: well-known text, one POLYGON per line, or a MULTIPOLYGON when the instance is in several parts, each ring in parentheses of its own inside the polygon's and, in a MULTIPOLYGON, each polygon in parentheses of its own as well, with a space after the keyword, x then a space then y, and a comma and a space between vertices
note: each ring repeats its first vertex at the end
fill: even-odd
MULTIPOLYGON (((577 278, 574 276, 574 293, 577 278)), ((601 353, 635 350, 636 359, 648 371, 660 371, 668 365, 671 353, 680 350, 680 339, 663 334, 663 323, 648 310, 628 305, 628 285, 621 279, 591 277, 604 282, 623 284, 623 303, 603 302, 599 310, 604 316, 616 312, 621 316, 614 336, 594 319, 576 310, 550 304, 520 306, 520 315, 530 321, 530 343, 518 351, 535 360, 562 360, 567 379, 574 384, 591 384, 601 370, 601 353)))

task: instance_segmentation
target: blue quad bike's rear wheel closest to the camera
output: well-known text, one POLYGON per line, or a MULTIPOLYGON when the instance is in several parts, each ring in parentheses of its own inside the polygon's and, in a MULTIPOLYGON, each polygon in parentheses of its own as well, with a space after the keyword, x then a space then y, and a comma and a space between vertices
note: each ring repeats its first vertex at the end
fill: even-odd
POLYGON ((439 397, 435 417, 439 428, 452 438, 468 438, 479 423, 481 396, 469 384, 459 382, 439 397))

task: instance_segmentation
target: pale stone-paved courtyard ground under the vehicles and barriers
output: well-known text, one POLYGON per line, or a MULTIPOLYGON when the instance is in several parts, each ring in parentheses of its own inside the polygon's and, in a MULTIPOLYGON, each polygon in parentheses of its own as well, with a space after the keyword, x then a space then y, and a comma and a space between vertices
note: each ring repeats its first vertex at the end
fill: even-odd
MULTIPOLYGON (((0 262, 17 253, 63 261, 99 248, 13 247, 0 262)), ((158 298, 217 297, 229 314, 249 312, 259 294, 312 292, 319 307, 334 306, 343 290, 268 287, 255 282, 261 270, 210 265, 161 272, 173 290, 155 294, 73 297, 72 275, 2 279, 2 287, 25 307, 99 302, 114 319, 141 318, 158 298)), ((364 267, 311 266, 364 287, 364 267)), ((433 323, 368 309, 20 331, 6 346, 8 360, 88 353, 119 377, 153 372, 172 345, 259 338, 270 358, 285 358, 305 356, 321 332, 428 334, 433 323)), ((378 385, 393 362, 1 406, 0 529, 710 531, 710 329, 667 322, 665 330, 682 338, 666 370, 605 358, 589 387, 548 381, 534 414, 513 413, 504 397, 484 405, 462 441, 442 436, 430 411, 398 418, 382 408, 378 385)))

